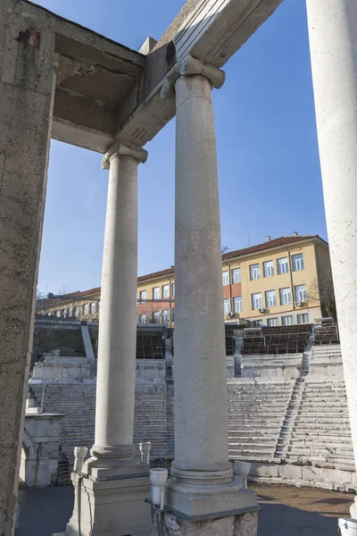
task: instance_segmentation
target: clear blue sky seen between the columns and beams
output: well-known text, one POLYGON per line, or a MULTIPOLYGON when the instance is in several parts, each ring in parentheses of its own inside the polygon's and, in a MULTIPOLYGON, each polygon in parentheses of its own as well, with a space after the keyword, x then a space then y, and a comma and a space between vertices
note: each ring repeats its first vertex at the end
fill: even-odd
MULTIPOLYGON (((160 38, 184 0, 41 0, 138 49, 160 38)), ((225 66, 213 91, 222 245, 292 234, 327 239, 305 3, 285 0, 225 66)), ((138 273, 174 264, 175 122, 139 166, 138 273)), ((101 155, 52 141, 38 289, 100 285, 107 172, 101 155)))

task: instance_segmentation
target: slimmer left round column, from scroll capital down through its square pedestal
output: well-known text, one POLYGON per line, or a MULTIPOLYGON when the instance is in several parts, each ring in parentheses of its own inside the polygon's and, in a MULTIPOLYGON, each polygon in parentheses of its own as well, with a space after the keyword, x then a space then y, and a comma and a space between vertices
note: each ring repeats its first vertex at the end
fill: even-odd
POLYGON ((137 165, 141 147, 114 144, 109 169, 99 322, 95 445, 84 477, 72 474, 67 536, 149 533, 149 467, 133 444, 137 344, 137 165), (79 515, 80 510, 80 515, 79 515), (80 525, 80 529, 79 529, 80 525))

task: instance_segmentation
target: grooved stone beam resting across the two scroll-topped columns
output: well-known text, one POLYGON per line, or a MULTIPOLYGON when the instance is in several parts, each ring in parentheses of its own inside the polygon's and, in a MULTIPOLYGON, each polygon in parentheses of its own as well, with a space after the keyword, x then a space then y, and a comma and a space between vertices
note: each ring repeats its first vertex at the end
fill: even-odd
POLYGON ((117 138, 143 145, 175 115, 173 96, 162 103, 162 83, 176 61, 191 54, 222 67, 273 13, 282 0, 188 0, 147 56, 145 91, 119 106, 117 138))

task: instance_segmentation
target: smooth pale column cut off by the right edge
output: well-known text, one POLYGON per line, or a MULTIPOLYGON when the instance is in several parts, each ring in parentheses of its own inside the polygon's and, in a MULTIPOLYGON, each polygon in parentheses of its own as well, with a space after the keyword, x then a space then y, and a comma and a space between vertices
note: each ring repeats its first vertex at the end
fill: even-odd
MULTIPOLYGON (((357 465, 357 5, 307 0, 320 165, 357 465)), ((352 511, 357 517, 357 511, 352 511)))

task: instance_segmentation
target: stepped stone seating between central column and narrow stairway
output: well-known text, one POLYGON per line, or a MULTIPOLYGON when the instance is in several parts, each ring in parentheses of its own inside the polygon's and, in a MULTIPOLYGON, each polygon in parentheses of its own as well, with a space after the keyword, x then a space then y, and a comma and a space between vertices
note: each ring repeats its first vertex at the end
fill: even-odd
POLYGON ((229 457, 275 458, 295 381, 228 381, 229 457))

